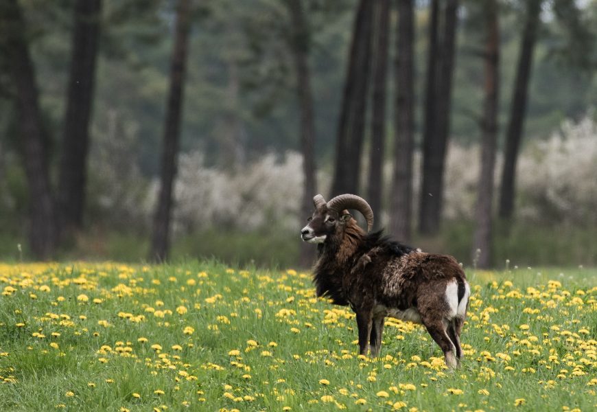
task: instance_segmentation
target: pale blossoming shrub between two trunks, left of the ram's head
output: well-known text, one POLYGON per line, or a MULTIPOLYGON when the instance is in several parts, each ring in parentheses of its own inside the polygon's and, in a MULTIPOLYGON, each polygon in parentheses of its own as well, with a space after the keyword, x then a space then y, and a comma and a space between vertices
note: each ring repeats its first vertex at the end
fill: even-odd
POLYGON ((250 231, 270 227, 296 230, 303 193, 302 157, 269 154, 247 168, 225 172, 204 166, 194 152, 180 156, 174 229, 190 233, 211 228, 250 231))

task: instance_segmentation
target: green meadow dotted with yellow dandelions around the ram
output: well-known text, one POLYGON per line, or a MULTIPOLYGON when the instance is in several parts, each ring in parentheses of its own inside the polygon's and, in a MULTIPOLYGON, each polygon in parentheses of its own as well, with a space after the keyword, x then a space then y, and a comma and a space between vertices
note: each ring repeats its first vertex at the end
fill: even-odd
POLYGON ((215 262, 0 265, 3 411, 594 411, 597 271, 467 271, 462 367, 388 319, 358 356, 351 310, 309 273, 215 262))

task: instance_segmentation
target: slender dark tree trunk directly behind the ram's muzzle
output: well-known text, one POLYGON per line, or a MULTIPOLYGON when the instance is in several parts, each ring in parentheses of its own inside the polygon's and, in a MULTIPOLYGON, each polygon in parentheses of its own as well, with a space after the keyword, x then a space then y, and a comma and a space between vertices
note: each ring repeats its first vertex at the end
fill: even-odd
MULTIPOLYGON (((296 71, 296 93, 301 107, 301 152, 303 153, 304 192, 301 203, 301 217, 311 216, 312 198, 316 193, 315 179, 315 119, 313 111, 313 93, 309 70, 309 48, 311 34, 305 22, 305 12, 301 0, 288 0, 292 24, 291 49, 296 71)), ((310 244, 301 243, 300 264, 307 267, 312 264, 315 249, 310 244)))

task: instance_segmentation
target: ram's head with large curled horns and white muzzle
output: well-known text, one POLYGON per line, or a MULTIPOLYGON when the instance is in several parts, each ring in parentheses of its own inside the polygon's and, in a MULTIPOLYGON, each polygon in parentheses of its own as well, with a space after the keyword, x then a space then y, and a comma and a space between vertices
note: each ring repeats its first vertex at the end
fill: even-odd
POLYGON ((373 227, 373 210, 363 198, 354 194, 341 194, 326 202, 318 194, 313 198, 315 211, 301 230, 301 238, 309 243, 323 243, 329 236, 342 233, 351 221, 347 209, 360 211, 367 220, 367 231, 373 227))

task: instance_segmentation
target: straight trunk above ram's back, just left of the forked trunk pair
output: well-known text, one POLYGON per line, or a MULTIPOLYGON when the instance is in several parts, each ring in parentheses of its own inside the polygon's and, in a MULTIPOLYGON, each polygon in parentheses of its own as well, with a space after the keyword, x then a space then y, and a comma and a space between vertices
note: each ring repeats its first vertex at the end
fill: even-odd
POLYGON ((414 149, 414 5, 398 0, 396 60, 396 132, 393 190, 390 212, 392 233, 410 240, 412 222, 412 152, 414 149))

